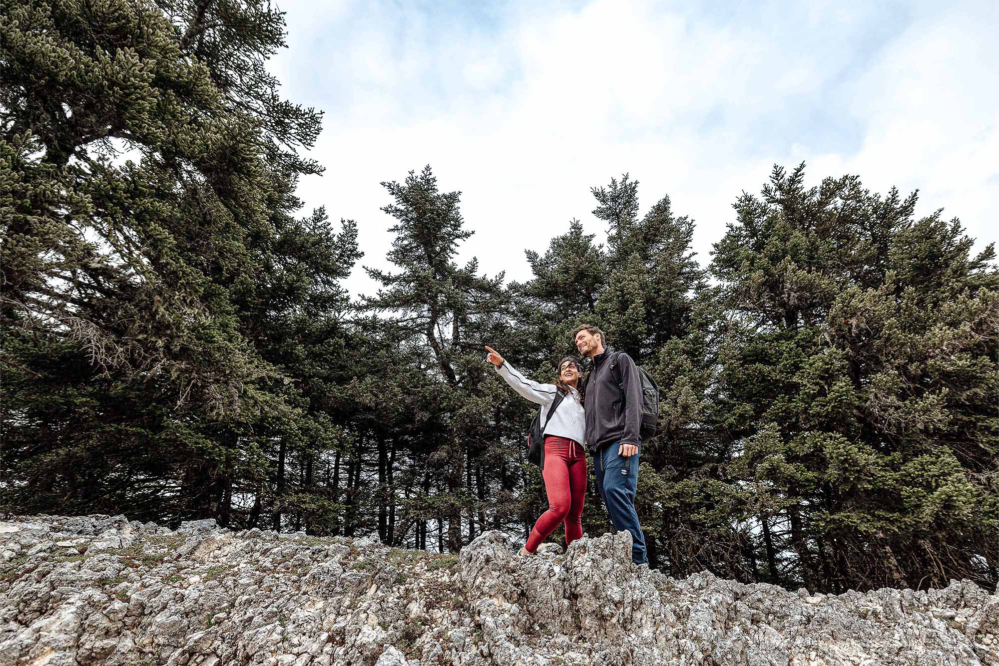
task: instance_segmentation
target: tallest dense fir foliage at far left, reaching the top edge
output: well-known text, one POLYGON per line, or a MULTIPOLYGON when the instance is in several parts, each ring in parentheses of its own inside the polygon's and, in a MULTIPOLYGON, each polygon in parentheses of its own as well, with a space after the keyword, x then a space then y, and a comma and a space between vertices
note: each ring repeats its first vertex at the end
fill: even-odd
POLYGON ((4 3, 0 503, 229 522, 276 440, 329 439, 294 364, 340 328, 356 229, 293 217, 319 126, 264 69, 281 26, 257 3, 4 3))

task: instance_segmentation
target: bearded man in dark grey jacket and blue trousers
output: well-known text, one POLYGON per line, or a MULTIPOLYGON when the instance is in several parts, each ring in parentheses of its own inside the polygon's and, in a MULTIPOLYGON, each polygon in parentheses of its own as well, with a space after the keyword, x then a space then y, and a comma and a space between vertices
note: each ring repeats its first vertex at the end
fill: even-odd
POLYGON ((585 385, 586 447, 593 454, 596 489, 615 531, 631 532, 631 561, 645 559, 645 535, 638 526, 634 495, 641 450, 641 379, 631 357, 604 346, 606 335, 592 326, 572 332, 579 354, 590 358, 585 385))

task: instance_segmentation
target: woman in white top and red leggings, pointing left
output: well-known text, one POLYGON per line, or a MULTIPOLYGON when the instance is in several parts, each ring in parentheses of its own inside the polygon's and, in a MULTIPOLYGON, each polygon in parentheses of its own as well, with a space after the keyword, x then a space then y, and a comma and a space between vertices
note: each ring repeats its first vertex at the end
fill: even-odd
POLYGON ((582 536, 582 501, 586 495, 586 457, 583 453, 582 433, 585 426, 582 414, 582 392, 579 390, 579 363, 573 356, 558 362, 558 378, 553 384, 538 383, 517 372, 490 346, 487 359, 513 390, 531 402, 541 405, 541 424, 544 426, 544 491, 548 496, 548 510, 541 514, 530 530, 527 543, 520 548, 521 555, 533 555, 537 546, 565 521, 565 545, 582 536), (547 424, 544 419, 555 395, 565 397, 558 403, 547 424))

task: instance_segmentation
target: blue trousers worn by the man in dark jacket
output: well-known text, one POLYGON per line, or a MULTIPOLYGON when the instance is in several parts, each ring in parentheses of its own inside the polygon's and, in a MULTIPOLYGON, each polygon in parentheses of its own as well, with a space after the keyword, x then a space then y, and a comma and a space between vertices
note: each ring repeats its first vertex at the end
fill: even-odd
POLYGON ((596 489, 600 499, 610 514, 614 531, 626 529, 631 532, 631 561, 641 564, 645 559, 645 535, 638 526, 638 514, 634 511, 634 494, 638 489, 638 453, 624 457, 617 453, 619 441, 600 446, 593 453, 593 472, 596 474, 596 489))

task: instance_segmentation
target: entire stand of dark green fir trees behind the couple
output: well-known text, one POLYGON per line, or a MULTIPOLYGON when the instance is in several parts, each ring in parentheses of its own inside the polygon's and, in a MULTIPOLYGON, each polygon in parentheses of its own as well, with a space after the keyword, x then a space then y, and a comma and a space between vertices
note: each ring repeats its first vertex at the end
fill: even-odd
POLYGON ((592 323, 661 388, 637 499, 654 566, 826 591, 999 580, 995 253, 916 218, 915 195, 775 167, 701 267, 693 221, 665 196, 642 215, 624 175, 591 189, 605 245, 573 220, 504 286, 457 263, 472 231, 428 167, 383 184, 395 268, 352 303, 357 226, 299 215, 321 116, 268 73, 280 11, 0 10, 4 510, 378 533, 453 567, 546 508, 533 405, 483 345, 550 381, 592 323))

